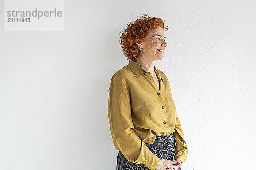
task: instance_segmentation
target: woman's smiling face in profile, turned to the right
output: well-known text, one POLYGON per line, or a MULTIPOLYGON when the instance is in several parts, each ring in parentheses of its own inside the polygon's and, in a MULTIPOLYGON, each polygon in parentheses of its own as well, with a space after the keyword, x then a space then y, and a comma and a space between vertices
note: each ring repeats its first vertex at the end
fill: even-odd
POLYGON ((165 42, 164 30, 160 26, 148 31, 146 38, 141 42, 140 48, 143 48, 146 57, 153 60, 163 59, 164 50, 167 46, 165 42))

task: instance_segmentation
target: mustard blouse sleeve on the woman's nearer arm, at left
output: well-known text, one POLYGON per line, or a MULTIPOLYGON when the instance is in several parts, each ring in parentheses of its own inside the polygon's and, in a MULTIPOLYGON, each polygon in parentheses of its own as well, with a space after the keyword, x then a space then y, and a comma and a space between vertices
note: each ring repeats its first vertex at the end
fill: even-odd
POLYGON ((131 98, 128 85, 114 74, 108 89, 108 119, 113 144, 128 161, 143 163, 151 170, 155 170, 160 158, 152 153, 143 140, 134 132, 131 116, 131 98))

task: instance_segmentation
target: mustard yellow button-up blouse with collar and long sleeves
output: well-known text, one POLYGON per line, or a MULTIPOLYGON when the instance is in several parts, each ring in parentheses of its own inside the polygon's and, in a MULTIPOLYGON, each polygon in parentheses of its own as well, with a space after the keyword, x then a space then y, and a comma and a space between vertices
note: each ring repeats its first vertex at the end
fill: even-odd
POLYGON ((150 72, 129 60, 112 76, 108 89, 108 119, 114 147, 128 161, 143 163, 151 170, 157 167, 160 158, 145 143, 154 143, 156 136, 174 132, 173 159, 185 162, 188 154, 168 79, 155 66, 154 71, 160 89, 150 72))

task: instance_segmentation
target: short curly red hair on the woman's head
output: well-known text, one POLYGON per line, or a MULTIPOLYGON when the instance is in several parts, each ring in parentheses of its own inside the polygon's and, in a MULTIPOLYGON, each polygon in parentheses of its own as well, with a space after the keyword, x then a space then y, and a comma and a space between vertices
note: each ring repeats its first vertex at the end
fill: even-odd
POLYGON ((119 42, 128 60, 136 61, 138 59, 140 50, 135 42, 142 42, 148 31, 157 26, 168 30, 168 26, 165 27, 162 18, 148 17, 147 14, 143 14, 134 23, 129 22, 126 28, 120 32, 121 40, 119 42))

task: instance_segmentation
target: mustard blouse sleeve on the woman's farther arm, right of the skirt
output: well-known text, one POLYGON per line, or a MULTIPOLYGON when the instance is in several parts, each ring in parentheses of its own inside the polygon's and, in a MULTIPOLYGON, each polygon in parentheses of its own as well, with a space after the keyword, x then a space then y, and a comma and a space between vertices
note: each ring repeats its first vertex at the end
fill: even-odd
POLYGON ((176 116, 176 125, 175 132, 173 133, 175 136, 175 159, 180 159, 182 162, 185 162, 188 155, 188 148, 186 142, 184 141, 183 130, 181 129, 180 119, 176 116))

